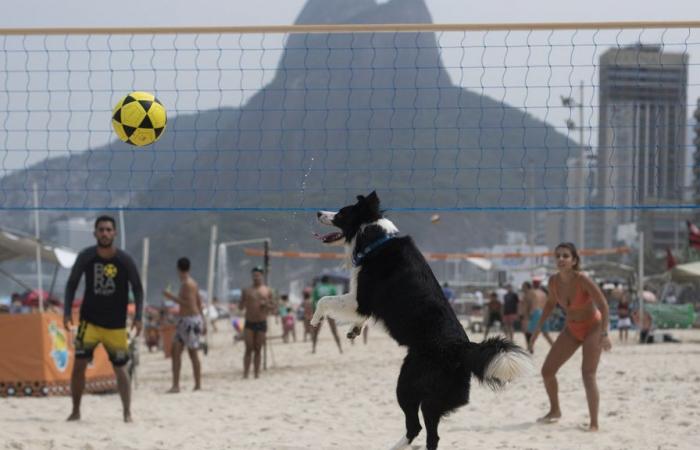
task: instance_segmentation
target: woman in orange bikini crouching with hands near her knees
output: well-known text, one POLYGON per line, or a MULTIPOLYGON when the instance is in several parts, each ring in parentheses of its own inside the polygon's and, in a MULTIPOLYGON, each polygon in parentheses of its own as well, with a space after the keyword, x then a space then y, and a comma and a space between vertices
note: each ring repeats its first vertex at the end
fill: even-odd
POLYGON ((580 272, 580 258, 574 244, 565 242, 554 249, 559 272, 549 279, 549 296, 544 312, 530 338, 530 345, 535 344, 547 317, 557 303, 566 312, 566 327, 552 345, 542 365, 544 387, 549 396, 549 412, 537 421, 554 423, 561 417, 556 373, 574 354, 576 349, 583 350, 581 374, 586 388, 588 412, 591 422, 589 431, 598 431, 598 385, 596 371, 602 350, 610 350, 608 338, 608 303, 598 286, 580 272))

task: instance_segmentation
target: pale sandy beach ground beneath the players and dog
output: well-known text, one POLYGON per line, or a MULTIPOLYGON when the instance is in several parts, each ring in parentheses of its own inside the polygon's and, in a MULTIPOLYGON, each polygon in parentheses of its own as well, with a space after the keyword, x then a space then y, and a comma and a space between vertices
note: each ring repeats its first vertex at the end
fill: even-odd
MULTIPOLYGON (((270 335, 279 326, 270 319, 270 335)), ((220 323, 219 328, 224 327, 220 323)), ((298 337, 300 328, 297 329, 298 337)), ((700 331, 675 331, 681 344, 621 345, 603 355, 598 383, 601 431, 588 420, 580 352, 559 374, 564 417, 538 425, 547 410, 539 377, 548 345, 538 341, 536 370, 494 393, 474 383, 471 402, 444 419, 445 449, 691 449, 700 442, 700 331)), ((630 336, 631 338, 636 335, 630 336)), ((471 335, 479 341, 482 334, 471 335)), ((298 339, 301 341, 301 339, 298 339)), ((522 335, 518 342, 523 344, 522 335)), ((343 342, 327 327, 318 352, 310 343, 270 343, 268 370, 242 380, 242 343, 229 330, 210 336, 203 385, 191 392, 189 360, 183 392, 170 387, 170 360, 141 353, 133 393, 135 423, 121 421, 116 394, 86 395, 83 420, 66 423, 68 397, 0 399, 0 446, 6 449, 388 449, 404 433, 394 394, 405 349, 372 325, 369 343, 343 342)), ((421 418, 422 421, 422 418, 421 418)), ((421 432, 414 449, 424 448, 421 432)))

